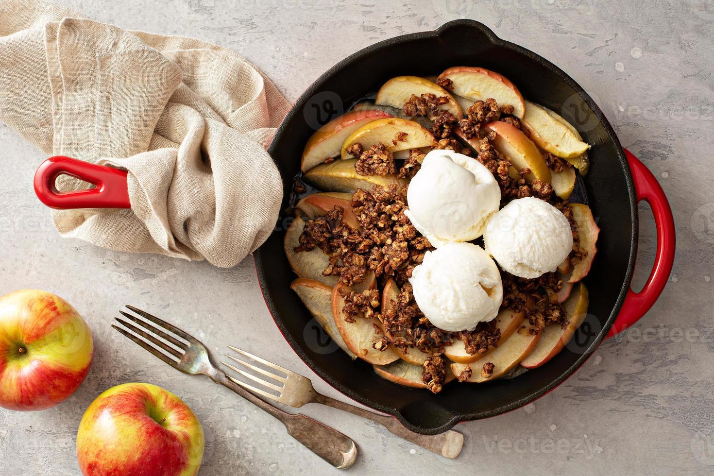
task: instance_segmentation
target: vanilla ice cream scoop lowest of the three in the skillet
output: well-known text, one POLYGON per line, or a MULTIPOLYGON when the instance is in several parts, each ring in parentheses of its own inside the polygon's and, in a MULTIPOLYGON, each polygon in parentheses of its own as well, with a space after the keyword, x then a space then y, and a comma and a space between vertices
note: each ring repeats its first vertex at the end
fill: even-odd
POLYGON ((503 300, 501 273, 472 243, 446 243, 427 251, 409 278, 421 312, 436 327, 456 332, 496 317, 503 300))

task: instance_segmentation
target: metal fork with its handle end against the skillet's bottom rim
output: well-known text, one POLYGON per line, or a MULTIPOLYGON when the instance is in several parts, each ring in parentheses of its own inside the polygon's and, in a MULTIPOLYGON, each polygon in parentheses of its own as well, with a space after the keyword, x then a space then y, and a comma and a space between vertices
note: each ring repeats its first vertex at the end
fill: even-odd
POLYGON ((282 375, 278 375, 278 373, 264 370, 263 368, 248 363, 245 360, 241 360, 233 355, 226 354, 227 358, 230 358, 241 365, 245 365, 246 368, 249 368, 253 370, 253 372, 258 373, 260 375, 248 373, 245 370, 241 370, 240 368, 237 368, 234 365, 221 361, 223 365, 226 365, 226 367, 230 368, 231 370, 243 375, 243 377, 248 378, 255 383, 258 383, 259 385, 263 385, 265 388, 273 390, 277 393, 277 395, 266 392, 265 390, 261 390, 260 388, 256 388, 253 385, 243 382, 241 380, 236 380, 235 378, 228 375, 228 378, 231 379, 234 383, 242 385, 248 390, 251 390, 251 392, 257 393, 258 395, 262 395, 266 398, 270 398, 271 400, 275 400, 276 402, 284 403, 285 405, 290 405, 291 407, 299 408, 303 405, 306 405, 307 403, 321 403, 322 405, 328 405, 330 407, 337 408, 338 410, 344 410, 346 412, 353 413, 354 415, 358 415, 367 418, 368 420, 372 420, 373 422, 377 422, 383 427, 386 427, 386 429, 389 430, 393 435, 397 435, 398 437, 402 437, 405 440, 409 440, 415 443, 416 445, 426 448, 426 450, 435 452, 437 455, 442 455, 448 458, 455 458, 458 456, 459 452, 461 452, 461 448, 463 447, 463 435, 461 435, 461 433, 459 432, 449 430, 445 433, 442 433, 441 435, 420 435, 419 433, 415 433, 413 431, 408 430, 393 417, 378 415, 368 410, 363 410, 362 408, 350 405, 349 403, 342 402, 341 400, 335 400, 332 397, 328 397, 327 395, 322 395, 321 393, 318 393, 315 388, 313 388, 311 380, 303 375, 300 375, 299 373, 295 373, 292 370, 283 368, 280 365, 276 365, 272 362, 269 362, 268 360, 258 357, 257 355, 248 353, 245 350, 235 348, 232 345, 228 345, 228 348, 247 358, 251 358, 258 363, 261 363, 268 368, 277 370, 278 373, 283 373, 286 375, 286 377, 283 377, 282 375), (267 377, 267 379, 265 377, 267 377), (271 383, 270 380, 276 381, 280 385, 271 383))

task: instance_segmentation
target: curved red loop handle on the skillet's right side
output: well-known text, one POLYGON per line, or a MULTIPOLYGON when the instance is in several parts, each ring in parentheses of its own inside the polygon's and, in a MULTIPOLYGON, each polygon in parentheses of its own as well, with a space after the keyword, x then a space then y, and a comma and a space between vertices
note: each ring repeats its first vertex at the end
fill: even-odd
POLYGON ((647 278, 645 287, 639 293, 635 293, 632 288, 628 290, 623 307, 620 309, 620 314, 615 319, 613 327, 610 328, 610 332, 605 337, 606 339, 629 328, 630 325, 636 323, 650 310, 665 288, 674 263, 674 218, 667 197, 655 176, 638 158, 633 156, 627 149, 625 149, 625 156, 635 183, 637 201, 639 203, 644 200, 649 203, 652 208, 652 214, 655 217, 657 254, 655 255, 655 265, 652 268, 650 277, 647 278))

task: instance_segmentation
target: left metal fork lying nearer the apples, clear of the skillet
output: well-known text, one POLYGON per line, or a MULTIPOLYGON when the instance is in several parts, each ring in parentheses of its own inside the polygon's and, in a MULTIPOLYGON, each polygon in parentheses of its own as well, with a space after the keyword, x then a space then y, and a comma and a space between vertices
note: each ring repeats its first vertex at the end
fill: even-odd
POLYGON ((300 414, 291 415, 290 413, 283 412, 283 410, 278 410, 278 408, 273 407, 273 405, 268 402, 264 402, 240 385, 233 383, 223 370, 216 368, 216 365, 211 361, 211 355, 208 353, 208 349, 196 338, 193 338, 193 336, 188 335, 188 333, 183 332, 183 330, 176 326, 146 313, 141 309, 137 309, 131 305, 127 305, 126 308, 129 308, 129 310, 134 311, 134 313, 146 320, 141 320, 134 315, 120 310, 119 313, 131 322, 121 318, 115 318, 115 320, 124 326, 124 328, 131 330, 133 334, 114 324, 112 324, 111 327, 126 335, 126 337, 131 340, 134 340, 135 343, 141 345, 141 347, 148 350, 149 353, 164 360, 165 363, 171 365, 171 367, 176 370, 181 370, 181 372, 189 375, 208 375, 213 382, 230 388, 233 392, 253 403, 253 405, 260 407, 262 410, 265 410, 280 420, 293 438, 334 467, 343 470, 355 462, 357 457, 357 445, 350 437, 310 417, 300 414), (147 320, 151 322, 146 322, 147 320), (143 339, 137 337, 137 335, 143 339), (171 345, 169 345, 169 343, 171 345))

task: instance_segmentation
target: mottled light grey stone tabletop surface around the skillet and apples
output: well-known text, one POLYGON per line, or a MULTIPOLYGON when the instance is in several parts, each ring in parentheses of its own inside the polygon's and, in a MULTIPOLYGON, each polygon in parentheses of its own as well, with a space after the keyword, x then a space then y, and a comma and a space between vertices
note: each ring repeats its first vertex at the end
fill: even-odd
MULTIPOLYGON (((234 49, 291 100, 353 51, 464 16, 554 61, 600 103, 623 145, 640 156, 670 198, 678 256, 657 305, 553 393, 521 410, 458 425, 466 447, 457 460, 352 415, 323 407, 304 411, 358 442, 353 474, 714 473, 712 0, 67 3, 124 28, 195 36, 234 49)), ((4 126, 0 144, 0 290, 44 288, 64 296, 89 321, 97 350, 91 375, 63 405, 38 413, 0 410, 1 474, 78 474, 74 438, 84 409, 106 388, 132 381, 161 385, 196 411, 207 440, 201 475, 336 472, 271 417, 228 390, 167 367, 109 327, 121 305, 132 303, 180 323, 214 350, 228 340, 312 375, 273 325, 250 258, 218 270, 63 240, 31 192, 34 168, 44 157, 4 126)), ((635 281, 643 283, 655 238, 648 209, 640 213, 635 281)))

